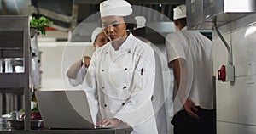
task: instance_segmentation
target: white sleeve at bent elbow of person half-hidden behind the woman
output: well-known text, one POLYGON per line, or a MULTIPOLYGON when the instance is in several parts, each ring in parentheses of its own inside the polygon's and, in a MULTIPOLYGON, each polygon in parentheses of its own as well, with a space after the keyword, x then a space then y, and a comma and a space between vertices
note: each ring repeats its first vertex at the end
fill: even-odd
POLYGON ((80 70, 78 71, 77 77, 75 79, 69 78, 68 77, 68 81, 69 83, 73 86, 79 86, 80 84, 83 83, 84 81, 84 77, 86 75, 87 69, 84 67, 84 65, 80 68, 80 70))

